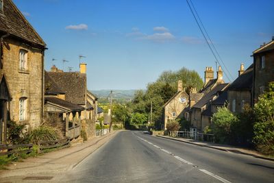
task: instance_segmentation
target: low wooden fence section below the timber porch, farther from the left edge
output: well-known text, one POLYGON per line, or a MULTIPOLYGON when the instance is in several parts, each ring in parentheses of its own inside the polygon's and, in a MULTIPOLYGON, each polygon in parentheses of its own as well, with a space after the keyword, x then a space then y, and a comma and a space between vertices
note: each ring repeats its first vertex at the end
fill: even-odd
POLYGON ((58 147, 59 149, 63 149, 71 146, 70 138, 63 138, 61 140, 56 141, 40 141, 38 142, 38 153, 42 153, 47 149, 52 149, 58 147))

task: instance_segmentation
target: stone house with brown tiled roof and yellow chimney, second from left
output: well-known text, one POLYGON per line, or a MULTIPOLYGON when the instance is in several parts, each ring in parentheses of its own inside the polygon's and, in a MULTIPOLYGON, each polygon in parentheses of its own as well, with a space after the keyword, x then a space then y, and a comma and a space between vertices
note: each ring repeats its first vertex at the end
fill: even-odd
POLYGON ((82 128, 88 132, 88 136, 93 136, 95 133, 95 107, 93 105, 97 105, 96 97, 87 90, 86 64, 79 64, 79 70, 79 72, 64 72, 53 65, 51 71, 47 73, 58 88, 65 93, 63 98, 59 97, 60 99, 84 108, 80 112, 80 109, 77 109, 70 114, 69 121, 75 121, 73 119, 81 121, 82 128), (94 103, 92 98, 94 98, 94 103))

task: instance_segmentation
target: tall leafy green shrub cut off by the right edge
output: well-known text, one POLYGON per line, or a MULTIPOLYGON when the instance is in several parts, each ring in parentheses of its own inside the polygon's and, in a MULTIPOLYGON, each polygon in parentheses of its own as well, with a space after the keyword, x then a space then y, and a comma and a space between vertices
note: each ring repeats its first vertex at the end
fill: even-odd
POLYGON ((274 82, 269 83, 268 92, 259 97, 253 111, 253 142, 263 154, 274 155, 274 82))

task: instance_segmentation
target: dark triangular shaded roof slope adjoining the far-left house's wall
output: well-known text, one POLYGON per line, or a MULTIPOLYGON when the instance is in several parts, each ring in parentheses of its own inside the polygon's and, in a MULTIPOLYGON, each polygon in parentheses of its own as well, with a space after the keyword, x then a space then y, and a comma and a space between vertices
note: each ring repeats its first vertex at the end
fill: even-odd
POLYGON ((45 94, 64 94, 60 87, 49 76, 49 73, 45 71, 45 94))

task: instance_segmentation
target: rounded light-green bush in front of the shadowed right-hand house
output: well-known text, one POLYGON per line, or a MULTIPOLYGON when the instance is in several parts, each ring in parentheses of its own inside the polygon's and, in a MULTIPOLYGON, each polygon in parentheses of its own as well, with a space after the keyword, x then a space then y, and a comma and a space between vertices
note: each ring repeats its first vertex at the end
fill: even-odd
POLYGON ((234 123, 238 123, 238 118, 230 112, 227 106, 217 109, 212 116, 212 132, 216 142, 231 143, 234 123))

